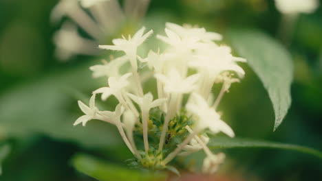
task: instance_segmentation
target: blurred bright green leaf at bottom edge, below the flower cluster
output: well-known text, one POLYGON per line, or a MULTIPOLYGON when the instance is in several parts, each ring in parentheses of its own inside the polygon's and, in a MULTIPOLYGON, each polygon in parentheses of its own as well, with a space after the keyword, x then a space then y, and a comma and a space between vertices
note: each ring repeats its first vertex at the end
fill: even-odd
POLYGON ((136 169, 129 169, 103 162, 92 156, 77 154, 72 158, 74 168, 87 176, 96 178, 100 181, 127 181, 127 180, 165 180, 166 176, 162 173, 144 172, 136 169))

